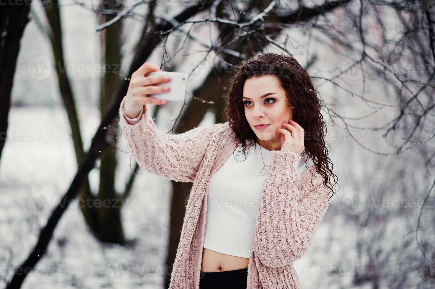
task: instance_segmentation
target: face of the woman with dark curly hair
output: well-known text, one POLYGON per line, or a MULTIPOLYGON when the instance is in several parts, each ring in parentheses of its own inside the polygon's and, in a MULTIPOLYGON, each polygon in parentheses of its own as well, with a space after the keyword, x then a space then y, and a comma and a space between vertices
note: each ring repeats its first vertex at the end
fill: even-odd
POLYGON ((244 113, 257 142, 268 150, 281 149, 282 123, 292 118, 285 90, 277 76, 266 74, 248 78, 243 86, 244 113), (259 123, 268 126, 255 127, 259 123))

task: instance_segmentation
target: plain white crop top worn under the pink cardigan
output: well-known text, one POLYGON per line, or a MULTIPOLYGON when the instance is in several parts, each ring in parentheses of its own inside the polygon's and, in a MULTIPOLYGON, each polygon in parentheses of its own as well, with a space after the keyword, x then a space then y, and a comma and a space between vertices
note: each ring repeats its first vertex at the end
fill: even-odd
MULTIPOLYGON (((246 159, 241 145, 211 177, 207 196, 204 248, 227 255, 249 258, 255 236, 258 205, 264 179, 269 172, 272 151, 255 143, 247 149, 246 159), (258 176, 263 161, 266 171, 258 176)), ((298 173, 308 156, 302 153, 298 173)), ((308 166, 314 163, 310 158, 308 166)))

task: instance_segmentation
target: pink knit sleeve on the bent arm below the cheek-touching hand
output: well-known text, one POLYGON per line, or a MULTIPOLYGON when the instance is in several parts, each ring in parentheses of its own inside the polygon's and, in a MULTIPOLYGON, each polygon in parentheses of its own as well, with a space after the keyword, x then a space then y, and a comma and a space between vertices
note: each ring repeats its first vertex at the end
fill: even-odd
POLYGON ((254 253, 264 266, 278 268, 302 257, 328 209, 328 188, 317 172, 298 189, 301 156, 272 151, 258 206, 254 253))

